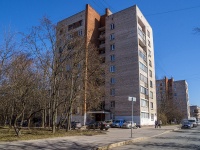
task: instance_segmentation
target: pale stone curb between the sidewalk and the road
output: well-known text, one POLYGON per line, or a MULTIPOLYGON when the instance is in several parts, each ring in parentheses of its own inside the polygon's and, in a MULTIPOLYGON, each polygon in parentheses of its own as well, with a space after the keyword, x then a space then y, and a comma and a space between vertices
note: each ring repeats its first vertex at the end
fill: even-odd
POLYGON ((165 131, 163 133, 153 135, 153 136, 150 136, 150 137, 140 137, 140 138, 134 138, 134 139, 126 140, 126 141, 122 141, 122 142, 112 143, 112 144, 109 144, 109 145, 106 145, 106 146, 94 148, 94 150, 108 150, 110 148, 119 147, 119 146, 131 144, 131 143, 134 143, 134 142, 139 142, 139 141, 142 141, 142 140, 147 140, 147 139, 150 139, 152 137, 157 137, 157 136, 162 135, 162 134, 166 134, 166 133, 169 133, 169 132, 172 132, 172 131, 177 131, 179 129, 180 128, 172 129, 172 130, 165 131))

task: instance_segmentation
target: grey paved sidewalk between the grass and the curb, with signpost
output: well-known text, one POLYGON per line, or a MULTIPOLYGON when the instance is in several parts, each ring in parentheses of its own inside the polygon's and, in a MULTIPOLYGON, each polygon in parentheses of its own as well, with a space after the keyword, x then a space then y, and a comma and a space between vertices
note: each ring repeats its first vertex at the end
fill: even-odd
POLYGON ((164 134, 178 129, 179 126, 163 126, 162 128, 142 127, 133 129, 131 138, 131 129, 111 128, 105 131, 106 134, 95 136, 71 136, 62 138, 31 140, 0 143, 0 149, 4 150, 58 150, 58 149, 110 149, 125 145, 134 141, 148 139, 153 136, 164 134))

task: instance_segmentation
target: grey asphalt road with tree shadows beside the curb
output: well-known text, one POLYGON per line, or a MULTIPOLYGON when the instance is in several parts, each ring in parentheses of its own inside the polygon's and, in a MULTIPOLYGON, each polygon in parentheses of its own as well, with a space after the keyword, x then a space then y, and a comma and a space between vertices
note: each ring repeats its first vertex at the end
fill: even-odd
POLYGON ((112 150, 200 150, 200 126, 180 129, 112 150))

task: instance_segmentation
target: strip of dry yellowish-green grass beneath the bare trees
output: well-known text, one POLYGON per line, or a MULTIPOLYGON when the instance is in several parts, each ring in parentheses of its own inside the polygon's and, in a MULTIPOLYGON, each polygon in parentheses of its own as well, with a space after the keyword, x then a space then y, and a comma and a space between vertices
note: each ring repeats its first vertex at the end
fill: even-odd
POLYGON ((17 137, 13 128, 9 129, 6 127, 0 127, 0 142, 45 139, 45 138, 64 137, 64 136, 81 136, 81 135, 92 136, 98 134, 105 134, 105 132, 101 130, 70 130, 66 132, 64 129, 60 129, 56 131, 55 134, 52 134, 51 130, 49 129, 23 128, 21 129, 20 137, 17 137))

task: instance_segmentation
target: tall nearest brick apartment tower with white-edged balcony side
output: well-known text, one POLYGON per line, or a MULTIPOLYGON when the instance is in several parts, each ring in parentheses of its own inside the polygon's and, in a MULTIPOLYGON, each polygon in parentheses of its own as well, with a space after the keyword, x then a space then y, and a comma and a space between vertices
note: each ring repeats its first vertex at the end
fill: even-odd
POLYGON ((76 33, 85 36, 87 44, 95 44, 107 66, 105 107, 88 110, 87 118, 131 120, 128 96, 132 96, 136 97, 134 121, 153 125, 157 119, 153 32, 139 8, 135 5, 114 14, 106 9, 105 15, 99 15, 86 5, 58 26, 63 27, 64 38, 76 33))

